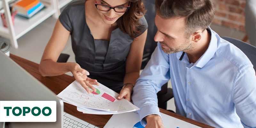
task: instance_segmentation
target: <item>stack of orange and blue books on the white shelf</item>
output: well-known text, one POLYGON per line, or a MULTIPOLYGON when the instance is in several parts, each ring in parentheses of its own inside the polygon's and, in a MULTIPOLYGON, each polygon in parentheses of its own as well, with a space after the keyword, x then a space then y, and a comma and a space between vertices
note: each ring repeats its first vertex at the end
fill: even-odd
POLYGON ((23 16, 25 18, 30 18, 37 12, 44 8, 39 0, 21 0, 13 5, 13 10, 17 10, 17 15, 23 16))

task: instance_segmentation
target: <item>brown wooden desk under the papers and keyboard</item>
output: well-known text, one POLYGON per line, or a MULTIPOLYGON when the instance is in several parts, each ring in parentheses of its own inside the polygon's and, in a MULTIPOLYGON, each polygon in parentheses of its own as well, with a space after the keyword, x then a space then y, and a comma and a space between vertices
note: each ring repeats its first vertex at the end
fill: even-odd
MULTIPOLYGON (((40 75, 40 73, 38 71, 39 64, 34 63, 29 60, 26 60, 26 59, 23 59, 21 57, 15 56, 13 54, 10 54, 10 58, 12 60, 14 60, 16 63, 18 63, 26 71, 28 71, 28 73, 30 73, 32 76, 34 76, 37 80, 39 80, 41 83, 43 83, 46 87, 48 87, 50 90, 52 90, 52 92, 54 92, 56 95, 59 94, 62 90, 64 90, 73 81, 75 81, 74 77, 68 76, 66 74, 63 74, 60 76, 43 77, 40 75)), ((77 118, 80 118, 88 123, 98 126, 100 128, 103 128, 104 125, 108 122, 108 120, 112 116, 112 115, 83 114, 82 112, 79 112, 76 110, 76 106, 68 104, 68 103, 64 103, 64 111, 73 116, 76 116, 77 118)), ((184 116, 180 116, 178 114, 169 112, 169 111, 161 109, 161 108, 160 108, 160 112, 167 114, 169 116, 173 116, 175 118, 184 120, 191 124, 195 124, 195 125, 203 127, 203 128, 213 128, 209 125, 197 122, 195 120, 186 118, 184 116)))

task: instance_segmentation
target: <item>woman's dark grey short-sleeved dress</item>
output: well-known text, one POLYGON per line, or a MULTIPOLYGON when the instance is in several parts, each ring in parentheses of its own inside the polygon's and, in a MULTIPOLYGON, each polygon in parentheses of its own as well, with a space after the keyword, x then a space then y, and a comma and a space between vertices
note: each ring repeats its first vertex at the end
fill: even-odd
MULTIPOLYGON (((84 3, 75 1, 68 4, 59 16, 60 23, 70 31, 76 62, 89 71, 88 77, 119 93, 133 38, 117 28, 112 31, 110 41, 94 40, 86 24, 84 3)), ((140 19, 140 23, 144 25, 140 27, 142 34, 148 28, 145 17, 140 19)))

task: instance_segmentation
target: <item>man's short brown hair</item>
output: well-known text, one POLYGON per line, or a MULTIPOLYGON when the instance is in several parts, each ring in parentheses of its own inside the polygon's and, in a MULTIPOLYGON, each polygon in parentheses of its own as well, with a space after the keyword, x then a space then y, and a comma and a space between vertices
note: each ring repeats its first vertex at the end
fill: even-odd
POLYGON ((155 6, 164 19, 186 17, 186 36, 208 28, 214 17, 211 0, 156 0, 155 6))

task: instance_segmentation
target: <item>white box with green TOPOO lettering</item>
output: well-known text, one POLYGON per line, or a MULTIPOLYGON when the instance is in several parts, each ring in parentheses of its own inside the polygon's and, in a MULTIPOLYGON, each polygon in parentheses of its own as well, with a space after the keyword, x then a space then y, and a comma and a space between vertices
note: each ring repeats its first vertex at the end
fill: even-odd
POLYGON ((0 122, 56 122, 56 101, 0 101, 0 122))

